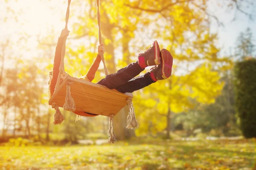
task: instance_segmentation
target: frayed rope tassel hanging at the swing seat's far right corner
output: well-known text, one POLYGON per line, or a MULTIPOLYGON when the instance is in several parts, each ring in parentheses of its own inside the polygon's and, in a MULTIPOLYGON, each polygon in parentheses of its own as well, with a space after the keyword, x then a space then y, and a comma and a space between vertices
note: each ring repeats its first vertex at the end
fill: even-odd
POLYGON ((135 117, 135 113, 134 113, 134 107, 133 107, 133 104, 132 104, 132 97, 128 97, 127 99, 128 103, 127 105, 129 106, 129 114, 127 116, 127 126, 126 128, 127 129, 132 129, 134 127, 138 127, 138 122, 136 120, 136 117, 135 117))

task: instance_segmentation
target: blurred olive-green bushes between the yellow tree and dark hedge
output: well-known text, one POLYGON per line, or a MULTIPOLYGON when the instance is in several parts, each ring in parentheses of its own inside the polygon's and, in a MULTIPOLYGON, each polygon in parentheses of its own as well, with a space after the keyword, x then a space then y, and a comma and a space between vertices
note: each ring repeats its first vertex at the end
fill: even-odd
POLYGON ((209 133, 211 130, 218 132, 217 135, 239 135, 239 126, 235 111, 234 77, 226 73, 222 78, 225 82, 221 95, 210 105, 198 104, 195 109, 175 115, 175 123, 183 125, 188 134, 200 128, 202 132, 209 133))

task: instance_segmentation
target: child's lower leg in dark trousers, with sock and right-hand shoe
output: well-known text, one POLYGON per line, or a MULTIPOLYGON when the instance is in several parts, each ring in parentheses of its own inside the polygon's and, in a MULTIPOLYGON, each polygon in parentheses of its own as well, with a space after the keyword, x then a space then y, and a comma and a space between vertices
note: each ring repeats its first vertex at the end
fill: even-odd
POLYGON ((157 80, 167 79, 172 74, 172 55, 166 49, 161 51, 161 64, 157 65, 150 72, 135 77, 123 85, 119 85, 116 90, 122 93, 132 93, 142 89, 157 80))

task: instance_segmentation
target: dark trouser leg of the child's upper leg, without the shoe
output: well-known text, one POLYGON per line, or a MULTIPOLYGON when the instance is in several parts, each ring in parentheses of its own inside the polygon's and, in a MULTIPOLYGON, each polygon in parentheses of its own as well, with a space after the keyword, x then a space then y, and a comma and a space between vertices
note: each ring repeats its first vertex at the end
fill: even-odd
POLYGON ((104 85, 109 89, 117 88, 125 84, 135 76, 139 75, 144 69, 140 67, 138 61, 121 68, 115 74, 109 74, 104 79, 97 82, 97 84, 104 85))

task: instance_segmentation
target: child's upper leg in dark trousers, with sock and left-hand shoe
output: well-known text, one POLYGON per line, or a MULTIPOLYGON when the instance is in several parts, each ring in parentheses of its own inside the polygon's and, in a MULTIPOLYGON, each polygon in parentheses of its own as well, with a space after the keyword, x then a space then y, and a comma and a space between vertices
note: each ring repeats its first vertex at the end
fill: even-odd
POLYGON ((160 48, 157 41, 148 48, 147 51, 138 55, 138 60, 131 63, 125 68, 120 69, 115 74, 107 75, 104 79, 100 80, 98 84, 105 85, 106 87, 113 89, 119 85, 123 85, 150 65, 156 65, 160 63, 160 48))

